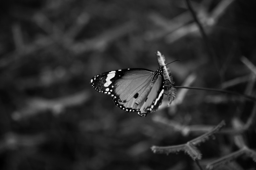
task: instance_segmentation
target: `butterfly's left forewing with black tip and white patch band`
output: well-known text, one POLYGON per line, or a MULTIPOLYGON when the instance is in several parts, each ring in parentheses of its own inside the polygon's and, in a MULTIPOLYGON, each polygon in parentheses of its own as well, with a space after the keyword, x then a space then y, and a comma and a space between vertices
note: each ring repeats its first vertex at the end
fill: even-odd
POLYGON ((153 71, 146 69, 114 70, 94 76, 90 83, 95 90, 110 95, 113 100, 126 102, 143 91, 152 75, 153 71))

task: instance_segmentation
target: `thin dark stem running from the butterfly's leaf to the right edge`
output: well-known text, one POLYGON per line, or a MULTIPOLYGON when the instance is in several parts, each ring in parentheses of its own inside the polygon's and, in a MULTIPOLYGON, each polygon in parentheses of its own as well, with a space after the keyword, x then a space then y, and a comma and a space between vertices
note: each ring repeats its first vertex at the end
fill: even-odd
POLYGON ((222 92, 222 93, 228 93, 228 94, 234 94, 238 95, 241 97, 244 97, 246 99, 252 100, 256 102, 256 98, 252 96, 248 96, 246 94, 238 93, 238 92, 233 92, 229 90, 223 90, 223 89, 212 89, 212 88, 204 88, 204 87, 186 87, 186 86, 173 86, 174 88, 183 88, 183 89, 195 89, 195 90, 208 90, 208 91, 214 91, 214 92, 222 92))

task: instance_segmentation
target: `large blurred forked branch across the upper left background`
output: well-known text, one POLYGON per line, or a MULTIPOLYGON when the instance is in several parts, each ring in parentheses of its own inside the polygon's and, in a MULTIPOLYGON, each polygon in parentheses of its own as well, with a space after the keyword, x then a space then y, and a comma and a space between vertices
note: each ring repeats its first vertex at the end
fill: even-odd
MULTIPOLYGON (((74 38, 76 37, 76 35, 89 21, 89 16, 86 13, 81 13, 80 16, 78 16, 75 24, 73 24, 66 33, 61 33, 61 30, 58 27, 52 25, 52 23, 48 21, 48 19, 41 13, 36 13, 31 18, 31 20, 36 20, 38 26, 45 29, 45 31, 49 33, 49 35, 37 38, 31 43, 23 45, 22 48, 19 48, 18 50, 3 56, 0 59, 0 68, 8 66, 14 61, 18 61, 22 57, 32 54, 37 50, 51 47, 53 44, 61 44, 65 48, 72 52, 75 52, 76 54, 84 53, 91 50, 103 51, 112 41, 128 33, 131 33, 136 29, 136 24, 134 22, 127 22, 121 26, 110 28, 109 30, 103 32, 95 38, 84 40, 83 42, 74 42, 74 38), (48 24, 50 24, 50 26, 48 24), (46 26, 47 28, 45 28, 46 26), (57 28, 57 31, 54 32, 53 28, 57 28)), ((14 29, 14 31, 15 30, 17 29, 14 29)), ((16 32, 17 31, 15 31, 15 33, 16 32)))

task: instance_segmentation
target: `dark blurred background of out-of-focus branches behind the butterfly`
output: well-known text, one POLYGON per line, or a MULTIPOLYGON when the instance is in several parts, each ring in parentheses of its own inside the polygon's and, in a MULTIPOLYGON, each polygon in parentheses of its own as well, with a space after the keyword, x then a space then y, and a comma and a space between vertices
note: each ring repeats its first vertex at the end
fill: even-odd
MULTIPOLYGON (((255 149, 250 100, 178 89, 170 107, 165 96, 141 118, 89 84, 110 70, 155 71, 159 50, 166 63, 182 61, 169 65, 176 85, 255 96, 255 1, 190 2, 212 56, 185 0, 0 1, 0 169, 198 169, 182 152, 166 156, 150 147, 186 143, 221 120, 231 132, 251 121, 239 137, 255 149)), ((199 147, 203 167, 239 149, 234 134, 199 147)), ((233 164, 255 169, 246 156, 233 164)))

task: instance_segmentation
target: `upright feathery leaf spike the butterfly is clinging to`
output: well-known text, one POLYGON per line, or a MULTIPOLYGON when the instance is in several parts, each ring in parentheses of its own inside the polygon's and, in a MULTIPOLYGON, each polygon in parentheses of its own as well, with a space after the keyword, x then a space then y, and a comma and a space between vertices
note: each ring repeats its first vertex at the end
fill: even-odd
MULTIPOLYGON (((159 63, 160 67, 163 67, 165 65, 165 57, 162 55, 159 51, 156 52, 157 61, 159 63)), ((172 101, 176 97, 176 88, 173 87, 174 81, 171 74, 171 71, 166 66, 163 67, 164 69, 164 86, 165 86, 165 92, 167 91, 167 100, 168 100, 168 106, 172 103, 172 101)))

